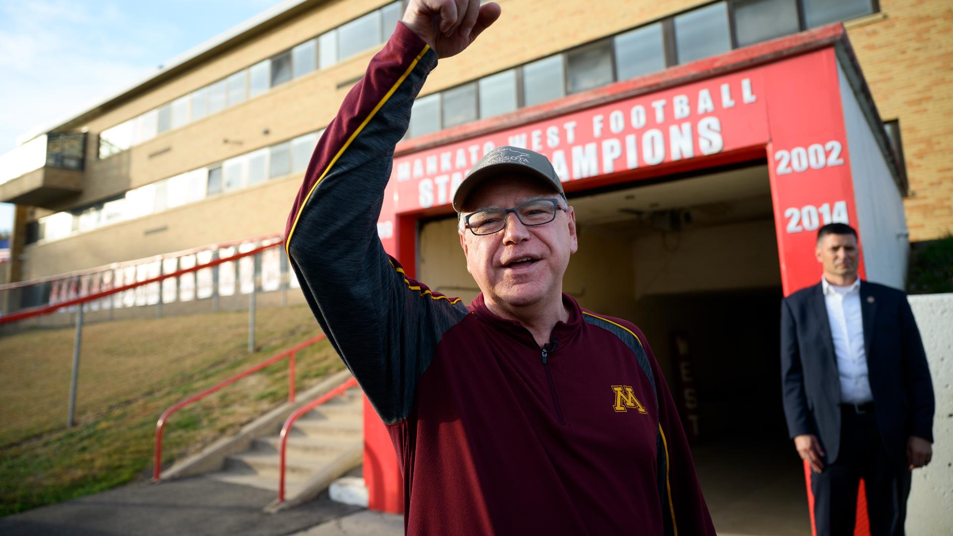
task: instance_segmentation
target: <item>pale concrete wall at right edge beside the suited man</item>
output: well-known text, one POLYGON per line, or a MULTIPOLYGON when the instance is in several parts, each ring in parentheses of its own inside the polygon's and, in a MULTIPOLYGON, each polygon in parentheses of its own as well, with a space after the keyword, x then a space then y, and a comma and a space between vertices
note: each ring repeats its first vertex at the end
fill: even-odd
POLYGON ((906 533, 941 536, 953 527, 953 294, 909 299, 930 362, 937 412, 933 461, 913 472, 906 533))

